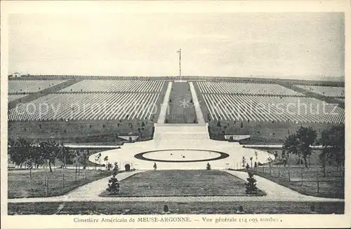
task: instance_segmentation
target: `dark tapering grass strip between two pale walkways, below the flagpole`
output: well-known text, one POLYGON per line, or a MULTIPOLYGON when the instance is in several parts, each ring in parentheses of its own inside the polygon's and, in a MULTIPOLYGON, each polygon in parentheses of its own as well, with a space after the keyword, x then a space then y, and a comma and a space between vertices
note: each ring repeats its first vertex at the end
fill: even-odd
POLYGON ((190 103, 192 95, 189 83, 173 83, 172 88, 166 120, 168 123, 194 123, 197 116, 193 104, 190 103), (183 102, 187 104, 183 105, 183 102))

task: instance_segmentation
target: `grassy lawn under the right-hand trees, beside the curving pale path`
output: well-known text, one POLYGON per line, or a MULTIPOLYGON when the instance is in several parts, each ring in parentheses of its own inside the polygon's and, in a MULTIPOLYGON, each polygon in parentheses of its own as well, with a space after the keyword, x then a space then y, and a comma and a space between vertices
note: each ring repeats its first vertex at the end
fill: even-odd
POLYGON ((283 167, 282 165, 273 166, 272 174, 270 174, 269 167, 258 167, 256 171, 251 171, 258 176, 265 177, 305 195, 330 198, 344 198, 345 195, 343 177, 336 170, 329 171, 328 176, 324 177, 319 167, 305 168, 294 166, 290 168, 290 182, 288 167, 283 167), (319 182, 317 182, 317 169, 319 182), (301 176, 301 173, 303 176, 301 176), (319 190, 317 185, 319 185, 319 190))

